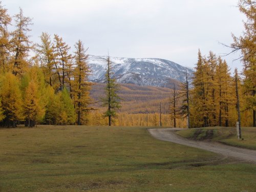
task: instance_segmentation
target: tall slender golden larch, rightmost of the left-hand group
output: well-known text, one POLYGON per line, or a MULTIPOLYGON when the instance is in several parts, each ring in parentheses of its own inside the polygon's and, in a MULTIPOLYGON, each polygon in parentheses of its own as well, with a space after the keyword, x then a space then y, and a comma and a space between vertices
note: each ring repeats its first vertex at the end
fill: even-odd
POLYGON ((87 49, 84 49, 81 40, 75 44, 75 70, 74 70, 74 86, 73 99, 75 111, 77 114, 76 123, 81 125, 86 121, 86 116, 89 112, 89 104, 91 102, 90 90, 91 83, 88 82, 88 75, 90 73, 86 54, 87 49))

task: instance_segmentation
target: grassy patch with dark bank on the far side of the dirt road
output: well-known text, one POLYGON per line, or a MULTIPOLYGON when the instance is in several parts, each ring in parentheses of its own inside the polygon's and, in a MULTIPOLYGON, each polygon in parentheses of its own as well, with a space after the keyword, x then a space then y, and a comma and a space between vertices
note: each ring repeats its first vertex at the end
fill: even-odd
POLYGON ((178 135, 193 140, 212 140, 224 144, 256 150, 256 128, 242 127, 242 140, 237 137, 235 127, 205 127, 176 132, 178 135))

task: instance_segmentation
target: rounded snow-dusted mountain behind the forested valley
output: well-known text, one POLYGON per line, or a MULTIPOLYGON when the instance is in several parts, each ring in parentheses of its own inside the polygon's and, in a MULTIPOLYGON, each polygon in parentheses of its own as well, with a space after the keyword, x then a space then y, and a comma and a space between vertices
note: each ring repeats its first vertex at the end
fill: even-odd
MULTIPOLYGON (((106 56, 90 55, 91 69, 89 80, 104 82, 107 67, 106 56)), ((119 83, 133 83, 139 86, 166 87, 172 79, 184 82, 186 68, 179 64, 158 58, 121 58, 111 57, 113 77, 119 83)), ((187 69, 188 76, 193 70, 187 69)))

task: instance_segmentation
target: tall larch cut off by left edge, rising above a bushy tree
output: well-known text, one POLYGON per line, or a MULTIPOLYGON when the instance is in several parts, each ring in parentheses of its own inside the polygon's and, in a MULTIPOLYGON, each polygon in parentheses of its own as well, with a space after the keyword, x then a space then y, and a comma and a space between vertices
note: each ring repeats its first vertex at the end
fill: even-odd
POLYGON ((10 33, 8 27, 11 25, 11 17, 7 13, 7 9, 0 2, 0 73, 9 69, 8 58, 10 49, 10 33))

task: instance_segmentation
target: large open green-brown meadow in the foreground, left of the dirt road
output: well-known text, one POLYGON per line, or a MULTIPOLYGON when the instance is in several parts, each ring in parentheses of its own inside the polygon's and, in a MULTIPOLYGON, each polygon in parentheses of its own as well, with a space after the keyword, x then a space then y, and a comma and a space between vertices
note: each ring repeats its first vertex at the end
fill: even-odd
POLYGON ((145 127, 0 129, 0 191, 255 191, 255 164, 145 127))

